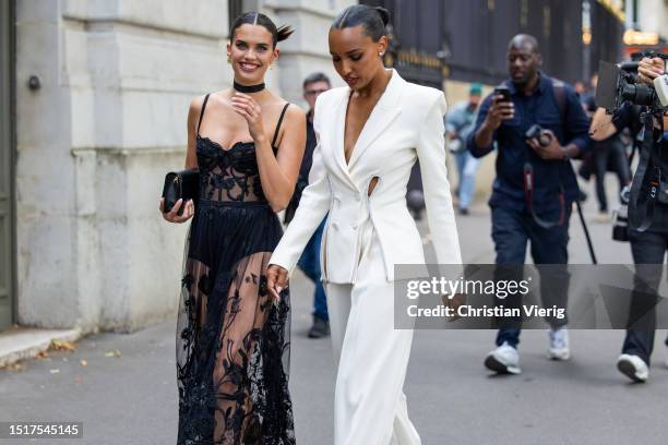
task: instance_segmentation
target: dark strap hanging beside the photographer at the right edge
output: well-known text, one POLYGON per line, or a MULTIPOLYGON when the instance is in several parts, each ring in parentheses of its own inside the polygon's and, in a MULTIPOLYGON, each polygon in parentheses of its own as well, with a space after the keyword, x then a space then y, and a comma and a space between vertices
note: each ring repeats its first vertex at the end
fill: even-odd
POLYGON ((654 121, 645 113, 645 135, 640 151, 640 161, 629 196, 629 224, 637 231, 652 226, 654 206, 660 193, 661 170, 654 156, 654 121))

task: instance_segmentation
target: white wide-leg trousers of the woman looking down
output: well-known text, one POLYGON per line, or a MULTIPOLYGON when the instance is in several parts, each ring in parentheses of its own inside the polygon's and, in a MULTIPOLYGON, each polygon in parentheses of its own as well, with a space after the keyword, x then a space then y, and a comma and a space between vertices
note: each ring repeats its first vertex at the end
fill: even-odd
POLYGON ((413 330, 394 329, 394 284, 378 237, 360 226, 354 285, 326 284, 334 361, 335 445, 419 445, 403 392, 413 330))

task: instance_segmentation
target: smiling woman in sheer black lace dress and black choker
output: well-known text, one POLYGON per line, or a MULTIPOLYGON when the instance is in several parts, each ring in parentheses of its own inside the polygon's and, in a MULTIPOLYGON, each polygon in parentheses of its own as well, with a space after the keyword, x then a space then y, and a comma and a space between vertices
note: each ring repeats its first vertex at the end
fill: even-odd
POLYGON ((171 222, 192 217, 177 330, 179 444, 295 443, 289 297, 283 290, 273 299, 265 273, 283 234, 275 212, 295 189, 306 117, 263 83, 290 33, 264 14, 240 15, 227 46, 234 88, 190 106, 186 168, 200 170, 200 200, 164 213, 171 222))

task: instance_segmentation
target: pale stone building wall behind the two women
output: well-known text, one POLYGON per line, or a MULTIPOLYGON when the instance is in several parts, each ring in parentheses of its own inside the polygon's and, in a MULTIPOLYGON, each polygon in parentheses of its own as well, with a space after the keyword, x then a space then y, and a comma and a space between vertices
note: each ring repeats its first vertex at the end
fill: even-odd
POLYGON ((172 316, 187 225, 165 222, 158 197, 165 173, 183 165, 191 99, 231 84, 229 11, 259 9, 296 28, 267 85, 303 105, 307 74, 336 80, 326 34, 351 2, 7 3, 0 29, 11 28, 13 45, 2 60, 14 76, 3 92, 13 105, 0 115, 13 136, 0 167, 12 193, 3 214, 0 187, 10 227, 0 234, 10 289, 0 313, 11 315, 0 328, 133 330, 172 316))

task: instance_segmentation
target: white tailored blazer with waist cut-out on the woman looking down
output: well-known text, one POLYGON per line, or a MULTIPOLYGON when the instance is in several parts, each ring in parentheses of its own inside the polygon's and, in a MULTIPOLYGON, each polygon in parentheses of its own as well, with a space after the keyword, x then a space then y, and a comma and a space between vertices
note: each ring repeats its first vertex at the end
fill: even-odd
POLYGON ((307 242, 329 212, 321 245, 324 281, 355 282, 360 256, 359 225, 370 217, 378 234, 387 280, 395 264, 424 264, 417 226, 406 206, 406 185, 420 160, 429 229, 441 264, 461 264, 460 242, 445 168, 443 93, 404 81, 393 70, 385 92, 371 111, 346 165, 345 116, 350 88, 318 97, 313 127, 318 146, 310 185, 270 264, 291 275, 307 242), (371 196, 368 188, 379 178, 371 196))

